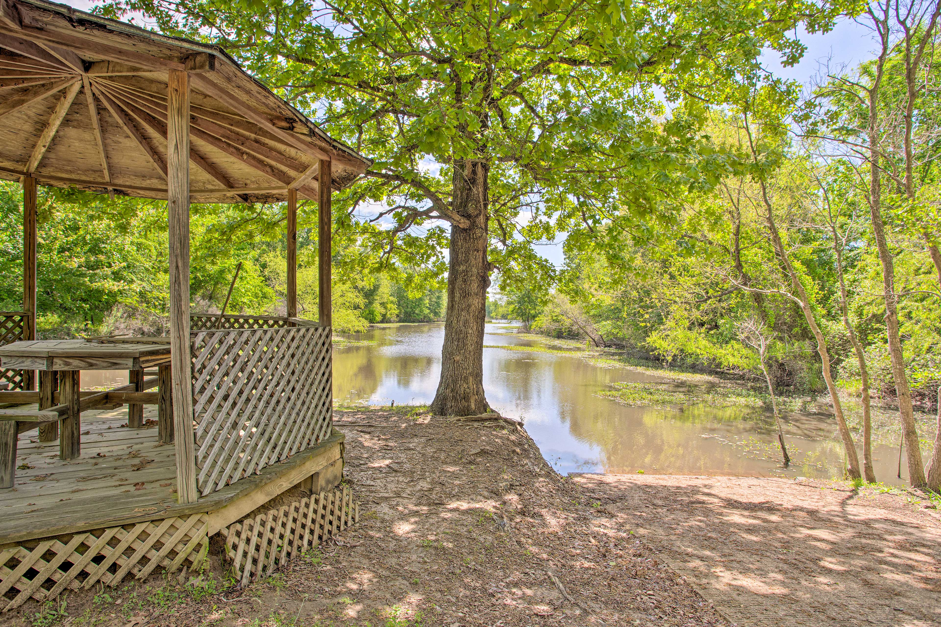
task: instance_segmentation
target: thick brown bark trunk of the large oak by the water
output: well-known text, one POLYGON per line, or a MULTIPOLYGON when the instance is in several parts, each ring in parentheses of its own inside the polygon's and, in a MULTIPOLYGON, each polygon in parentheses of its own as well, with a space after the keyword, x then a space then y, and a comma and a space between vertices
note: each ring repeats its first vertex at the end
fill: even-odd
POLYGON ((480 415, 484 396, 484 322, 492 266, 486 259, 487 198, 484 161, 455 164, 452 209, 470 220, 451 227, 448 306, 441 349, 441 378, 431 403, 436 415, 480 415))

